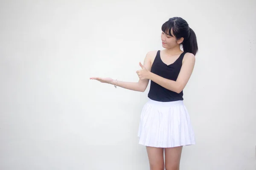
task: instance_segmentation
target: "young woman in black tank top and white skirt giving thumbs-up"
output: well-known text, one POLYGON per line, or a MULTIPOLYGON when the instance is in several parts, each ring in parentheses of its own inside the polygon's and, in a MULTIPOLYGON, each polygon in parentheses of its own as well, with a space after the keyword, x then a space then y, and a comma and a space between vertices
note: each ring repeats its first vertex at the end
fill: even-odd
POLYGON ((195 144, 189 114, 183 104, 183 89, 192 74, 198 45, 195 32, 181 17, 170 18, 163 24, 162 31, 164 49, 148 52, 144 64, 139 63, 141 69, 136 72, 139 82, 90 79, 141 92, 151 80, 149 100, 140 116, 139 144, 146 146, 150 170, 179 170, 182 147, 195 144))

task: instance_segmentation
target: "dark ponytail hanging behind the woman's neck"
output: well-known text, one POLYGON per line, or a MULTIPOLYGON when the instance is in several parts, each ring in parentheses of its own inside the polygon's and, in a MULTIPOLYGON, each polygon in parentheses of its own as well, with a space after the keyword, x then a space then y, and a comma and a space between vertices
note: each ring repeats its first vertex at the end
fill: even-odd
POLYGON ((195 32, 189 28, 189 38, 185 40, 183 43, 183 51, 189 52, 192 54, 196 54, 198 52, 198 44, 195 36, 195 32))

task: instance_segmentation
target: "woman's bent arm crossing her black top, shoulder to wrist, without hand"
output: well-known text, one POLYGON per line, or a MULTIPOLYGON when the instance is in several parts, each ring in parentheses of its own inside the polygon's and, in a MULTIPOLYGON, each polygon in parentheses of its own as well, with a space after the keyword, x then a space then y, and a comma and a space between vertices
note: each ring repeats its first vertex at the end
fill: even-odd
POLYGON ((158 76, 152 72, 148 71, 148 79, 159 84, 160 86, 167 88, 170 91, 180 93, 185 88, 189 78, 192 74, 195 65, 195 55, 191 53, 186 53, 183 58, 183 63, 180 69, 180 73, 176 81, 169 80, 163 77, 158 76))

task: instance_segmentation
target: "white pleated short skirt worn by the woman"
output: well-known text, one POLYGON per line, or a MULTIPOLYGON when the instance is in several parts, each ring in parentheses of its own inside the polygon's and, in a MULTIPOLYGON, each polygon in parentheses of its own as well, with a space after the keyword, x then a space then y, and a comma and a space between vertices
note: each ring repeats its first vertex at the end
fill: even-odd
POLYGON ((195 144, 189 113, 183 101, 144 105, 139 125, 139 144, 150 147, 178 147, 195 144))

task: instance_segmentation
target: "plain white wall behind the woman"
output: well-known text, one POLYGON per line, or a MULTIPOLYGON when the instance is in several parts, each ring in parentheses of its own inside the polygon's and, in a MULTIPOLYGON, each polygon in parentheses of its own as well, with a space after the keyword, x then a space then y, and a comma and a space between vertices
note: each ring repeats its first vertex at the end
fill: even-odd
POLYGON ((148 89, 89 77, 137 82, 175 16, 199 46, 184 89, 197 144, 180 170, 256 170, 255 0, 1 0, 0 170, 148 170, 148 89))

